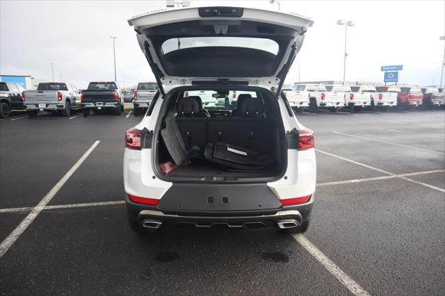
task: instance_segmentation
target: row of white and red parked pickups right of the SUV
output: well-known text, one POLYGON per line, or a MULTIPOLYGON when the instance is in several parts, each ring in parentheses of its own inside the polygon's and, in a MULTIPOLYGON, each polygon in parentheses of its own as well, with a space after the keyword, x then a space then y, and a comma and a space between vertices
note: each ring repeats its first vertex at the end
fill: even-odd
POLYGON ((444 88, 417 88, 373 85, 296 84, 283 88, 291 107, 297 112, 324 108, 331 112, 343 108, 361 111, 364 108, 399 107, 426 109, 445 106, 444 88))

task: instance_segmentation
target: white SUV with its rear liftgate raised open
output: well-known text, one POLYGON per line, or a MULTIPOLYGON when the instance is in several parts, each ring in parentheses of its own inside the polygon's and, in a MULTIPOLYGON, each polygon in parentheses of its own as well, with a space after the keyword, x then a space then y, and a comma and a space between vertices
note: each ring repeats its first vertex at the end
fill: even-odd
POLYGON ((126 133, 132 229, 191 224, 307 231, 316 185, 314 133, 280 92, 312 20, 211 7, 149 13, 129 24, 159 84, 143 120, 126 133), (216 100, 239 95, 234 108, 207 108, 201 91, 216 100))

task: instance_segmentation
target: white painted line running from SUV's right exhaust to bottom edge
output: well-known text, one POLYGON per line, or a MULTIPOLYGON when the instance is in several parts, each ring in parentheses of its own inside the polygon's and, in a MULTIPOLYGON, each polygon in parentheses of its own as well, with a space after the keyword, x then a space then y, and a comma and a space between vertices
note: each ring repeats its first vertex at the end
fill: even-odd
POLYGON ((302 234, 293 234, 292 237, 306 249, 309 254, 311 254, 318 262, 323 265, 334 277, 336 277, 341 283, 343 283, 348 290, 354 295, 371 295, 364 288, 362 288, 358 283, 356 283, 351 277, 348 276, 343 270, 341 270, 334 262, 330 261, 323 252, 321 252, 316 246, 312 245, 305 236, 302 234))

